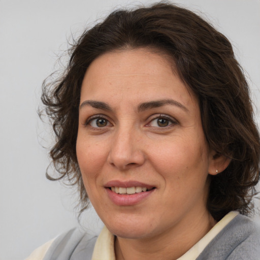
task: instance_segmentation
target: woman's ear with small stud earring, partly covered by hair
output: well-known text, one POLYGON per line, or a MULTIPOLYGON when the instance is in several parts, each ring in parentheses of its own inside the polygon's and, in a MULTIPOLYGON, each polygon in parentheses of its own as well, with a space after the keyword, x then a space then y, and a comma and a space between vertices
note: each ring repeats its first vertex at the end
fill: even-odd
POLYGON ((210 152, 209 156, 208 173, 210 175, 217 175, 223 172, 231 162, 231 158, 218 154, 215 151, 210 152))

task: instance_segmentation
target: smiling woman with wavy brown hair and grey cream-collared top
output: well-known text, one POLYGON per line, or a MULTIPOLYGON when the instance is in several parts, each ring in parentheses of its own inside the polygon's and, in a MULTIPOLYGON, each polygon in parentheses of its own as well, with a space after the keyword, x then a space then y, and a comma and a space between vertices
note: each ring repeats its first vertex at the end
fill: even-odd
POLYGON ((105 228, 98 238, 72 230, 32 255, 258 259, 248 92, 230 42, 186 9, 119 10, 85 31, 42 101, 58 179, 78 185, 81 211, 89 198, 105 228))

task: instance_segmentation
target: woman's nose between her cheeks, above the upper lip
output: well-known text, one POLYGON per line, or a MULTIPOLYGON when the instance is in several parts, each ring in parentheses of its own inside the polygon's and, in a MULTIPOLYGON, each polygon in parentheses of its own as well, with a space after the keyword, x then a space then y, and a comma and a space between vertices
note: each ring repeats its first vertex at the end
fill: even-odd
POLYGON ((137 130, 118 130, 111 140, 108 163, 119 170, 132 169, 144 164, 142 139, 137 130))

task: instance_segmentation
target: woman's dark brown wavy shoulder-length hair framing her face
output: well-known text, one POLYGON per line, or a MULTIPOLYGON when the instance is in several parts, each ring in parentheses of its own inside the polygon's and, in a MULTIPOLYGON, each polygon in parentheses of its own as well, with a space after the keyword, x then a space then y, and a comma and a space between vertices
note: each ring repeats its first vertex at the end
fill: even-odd
POLYGON ((57 79, 43 83, 42 102, 56 143, 50 150, 59 173, 78 185, 81 212, 87 207, 76 155, 81 84, 89 64, 103 53, 147 47, 167 53, 180 76, 199 98, 208 145, 231 158, 211 176, 207 208, 219 220, 238 210, 248 215, 259 180, 260 144, 249 87, 231 43, 197 14, 169 3, 117 10, 84 31, 70 49, 70 61, 57 79))

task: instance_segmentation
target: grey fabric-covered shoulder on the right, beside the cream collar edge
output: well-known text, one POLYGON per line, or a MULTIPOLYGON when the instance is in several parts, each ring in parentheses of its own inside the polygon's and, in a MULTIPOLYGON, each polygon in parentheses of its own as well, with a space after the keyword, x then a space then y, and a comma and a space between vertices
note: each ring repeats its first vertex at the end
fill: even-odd
POLYGON ((209 243, 197 260, 259 260, 260 227, 238 215, 209 243))

